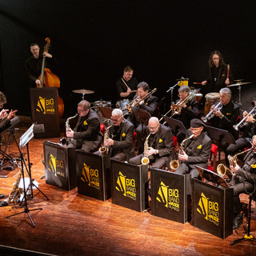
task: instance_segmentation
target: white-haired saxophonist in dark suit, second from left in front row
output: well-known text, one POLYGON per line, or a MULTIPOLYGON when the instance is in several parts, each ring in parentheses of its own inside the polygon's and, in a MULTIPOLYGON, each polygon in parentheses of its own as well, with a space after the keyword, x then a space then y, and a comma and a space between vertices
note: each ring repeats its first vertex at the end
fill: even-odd
POLYGON ((110 156, 118 161, 128 161, 135 156, 134 125, 123 118, 122 110, 112 111, 112 126, 106 130, 104 145, 110 146, 110 156))

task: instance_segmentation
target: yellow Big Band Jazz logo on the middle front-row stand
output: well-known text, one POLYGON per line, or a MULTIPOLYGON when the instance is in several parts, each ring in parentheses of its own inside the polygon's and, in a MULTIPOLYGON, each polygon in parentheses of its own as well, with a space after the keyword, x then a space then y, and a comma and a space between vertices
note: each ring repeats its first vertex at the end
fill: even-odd
POLYGON ((127 178, 119 171, 115 189, 126 198, 136 200, 136 187, 134 178, 127 178))

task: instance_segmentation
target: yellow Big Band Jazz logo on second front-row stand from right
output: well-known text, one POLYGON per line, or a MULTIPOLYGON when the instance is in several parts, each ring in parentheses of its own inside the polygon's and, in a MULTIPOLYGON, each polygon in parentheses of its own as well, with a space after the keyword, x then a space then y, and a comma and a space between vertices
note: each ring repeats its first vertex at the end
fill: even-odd
POLYGON ((170 189, 169 186, 161 182, 158 189, 157 200, 163 203, 166 208, 179 211, 178 189, 170 189))

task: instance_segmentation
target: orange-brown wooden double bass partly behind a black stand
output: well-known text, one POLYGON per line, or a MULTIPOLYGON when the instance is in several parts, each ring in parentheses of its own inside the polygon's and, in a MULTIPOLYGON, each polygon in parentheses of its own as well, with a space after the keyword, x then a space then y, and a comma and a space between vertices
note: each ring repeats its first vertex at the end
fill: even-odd
MULTIPOLYGON (((50 48, 50 38, 46 38, 46 45, 44 46, 44 51, 48 53, 50 48)), ((38 78, 40 80, 40 84, 37 84, 38 88, 43 86, 45 87, 57 87, 60 88, 61 82, 56 74, 53 74, 50 69, 46 68, 46 57, 42 58, 42 70, 41 74, 38 78)), ((58 96, 58 93, 57 93, 58 96)), ((58 117, 61 118, 64 113, 64 103, 62 98, 58 97, 58 117)))

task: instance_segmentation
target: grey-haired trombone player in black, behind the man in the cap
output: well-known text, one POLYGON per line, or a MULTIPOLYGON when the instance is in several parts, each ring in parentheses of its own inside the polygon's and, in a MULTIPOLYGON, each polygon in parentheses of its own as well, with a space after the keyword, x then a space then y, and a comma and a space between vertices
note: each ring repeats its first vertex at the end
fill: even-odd
MULTIPOLYGON (((189 96, 190 96, 190 87, 181 86, 178 89, 178 97, 180 99, 176 101, 176 104, 178 104, 178 102, 184 101, 189 96)), ((174 114, 172 118, 181 121, 185 126, 185 128, 189 129, 190 120, 192 120, 193 118, 198 118, 198 109, 199 109, 199 102, 195 101, 194 98, 192 98, 191 100, 187 100, 182 104, 181 114, 174 114)), ((186 137, 186 134, 182 134, 178 132, 178 134, 175 134, 175 136, 177 137, 178 143, 180 144, 182 140, 186 137)))

